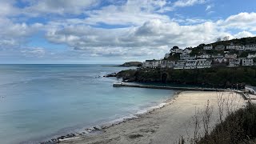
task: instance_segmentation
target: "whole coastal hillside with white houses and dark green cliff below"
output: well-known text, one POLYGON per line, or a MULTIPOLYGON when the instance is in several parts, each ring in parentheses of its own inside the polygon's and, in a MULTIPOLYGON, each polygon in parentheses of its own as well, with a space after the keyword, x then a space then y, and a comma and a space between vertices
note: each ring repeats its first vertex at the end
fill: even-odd
POLYGON ((138 70, 117 74, 125 82, 163 82, 210 87, 256 86, 256 37, 174 46, 161 60, 146 60, 138 70))

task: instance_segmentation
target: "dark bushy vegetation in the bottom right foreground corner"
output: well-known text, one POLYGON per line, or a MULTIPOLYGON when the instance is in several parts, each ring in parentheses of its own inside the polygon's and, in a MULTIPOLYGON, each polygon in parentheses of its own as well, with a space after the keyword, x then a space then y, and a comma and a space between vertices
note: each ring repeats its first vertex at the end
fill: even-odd
POLYGON ((201 138, 198 144, 254 143, 256 138, 256 106, 249 105, 227 116, 225 121, 201 138))

